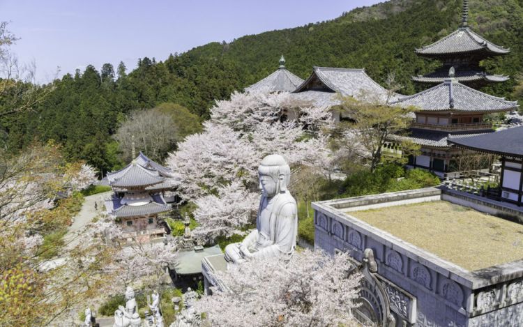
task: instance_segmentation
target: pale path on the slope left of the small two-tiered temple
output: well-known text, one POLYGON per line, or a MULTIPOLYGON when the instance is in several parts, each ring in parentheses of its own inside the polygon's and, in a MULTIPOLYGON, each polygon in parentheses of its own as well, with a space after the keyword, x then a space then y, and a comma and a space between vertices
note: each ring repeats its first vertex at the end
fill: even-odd
POLYGON ((89 195, 85 197, 84 204, 82 204, 82 209, 79 211, 75 218, 73 218, 73 224, 70 225, 67 229, 67 234, 64 236, 64 241, 66 241, 67 248, 74 248, 78 245, 78 233, 89 224, 96 216, 100 215, 103 209, 103 204, 105 198, 109 197, 112 191, 98 193, 96 195, 89 195), (95 203, 98 206, 98 209, 95 208, 95 203))

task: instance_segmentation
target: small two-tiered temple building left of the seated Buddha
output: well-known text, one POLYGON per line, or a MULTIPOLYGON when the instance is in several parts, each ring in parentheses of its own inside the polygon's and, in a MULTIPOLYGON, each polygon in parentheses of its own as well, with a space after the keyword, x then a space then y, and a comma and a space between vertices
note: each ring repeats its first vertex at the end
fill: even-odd
POLYGON ((173 190, 176 180, 169 169, 140 152, 129 165, 107 174, 107 180, 114 193, 105 208, 121 225, 127 241, 147 242, 169 233, 158 217, 172 210, 166 193, 173 190))

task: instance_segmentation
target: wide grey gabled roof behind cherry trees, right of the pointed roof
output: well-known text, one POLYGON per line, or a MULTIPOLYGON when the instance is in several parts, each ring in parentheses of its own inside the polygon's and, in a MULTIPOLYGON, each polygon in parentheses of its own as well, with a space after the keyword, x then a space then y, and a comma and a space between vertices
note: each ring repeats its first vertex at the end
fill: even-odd
POLYGON ((293 93, 310 91, 340 93, 358 100, 373 98, 385 102, 388 98, 388 91, 370 78, 365 69, 354 68, 314 67, 310 77, 293 93))

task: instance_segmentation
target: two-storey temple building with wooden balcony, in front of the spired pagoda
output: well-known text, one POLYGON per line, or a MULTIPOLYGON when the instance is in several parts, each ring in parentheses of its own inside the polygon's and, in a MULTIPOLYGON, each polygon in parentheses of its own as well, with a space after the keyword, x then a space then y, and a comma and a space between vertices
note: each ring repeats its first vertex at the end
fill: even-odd
POLYGON ((485 115, 510 112, 518 107, 517 102, 476 91, 455 78, 414 96, 402 97, 391 105, 418 108, 409 136, 400 138, 421 146, 420 155, 409 158, 409 166, 429 169, 439 176, 459 169, 455 159, 462 150, 453 149, 447 143, 448 137, 493 132, 485 115))

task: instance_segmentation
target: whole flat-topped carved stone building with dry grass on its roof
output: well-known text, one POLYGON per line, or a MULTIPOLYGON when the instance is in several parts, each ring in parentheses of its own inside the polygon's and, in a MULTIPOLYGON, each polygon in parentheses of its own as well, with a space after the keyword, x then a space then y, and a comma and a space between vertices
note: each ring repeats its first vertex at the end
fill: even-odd
POLYGON ((363 325, 523 325, 522 208, 446 188, 312 207, 314 248, 348 252, 363 274, 363 325))

